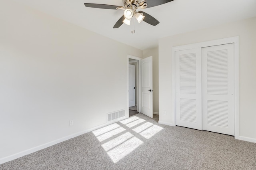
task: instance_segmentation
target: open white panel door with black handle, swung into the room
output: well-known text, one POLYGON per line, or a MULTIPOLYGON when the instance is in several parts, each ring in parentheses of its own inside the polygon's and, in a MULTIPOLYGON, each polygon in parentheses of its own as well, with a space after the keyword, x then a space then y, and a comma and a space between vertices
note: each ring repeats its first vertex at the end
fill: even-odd
POLYGON ((152 56, 140 61, 141 69, 141 109, 140 112, 153 117, 152 56))

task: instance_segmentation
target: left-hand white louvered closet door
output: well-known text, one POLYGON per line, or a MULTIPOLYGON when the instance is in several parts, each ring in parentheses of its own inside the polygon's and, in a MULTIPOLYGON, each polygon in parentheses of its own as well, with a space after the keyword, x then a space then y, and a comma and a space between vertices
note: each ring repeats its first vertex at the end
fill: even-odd
POLYGON ((176 125, 202 130, 201 48, 175 51, 176 125))

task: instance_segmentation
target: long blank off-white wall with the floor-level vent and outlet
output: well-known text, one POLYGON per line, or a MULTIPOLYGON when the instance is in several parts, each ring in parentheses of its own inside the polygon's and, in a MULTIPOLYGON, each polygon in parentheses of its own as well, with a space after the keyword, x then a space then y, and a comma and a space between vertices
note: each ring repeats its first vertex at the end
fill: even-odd
POLYGON ((127 54, 141 50, 0 2, 0 160, 128 116, 127 54))

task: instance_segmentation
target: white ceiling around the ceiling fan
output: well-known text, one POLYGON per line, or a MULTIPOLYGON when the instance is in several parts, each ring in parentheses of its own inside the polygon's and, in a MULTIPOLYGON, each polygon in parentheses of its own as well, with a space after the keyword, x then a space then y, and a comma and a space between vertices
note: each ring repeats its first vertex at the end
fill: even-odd
POLYGON ((16 0, 27 6, 71 22, 122 43, 147 49, 156 47, 158 39, 166 36, 208 28, 256 16, 256 0, 174 0, 167 4, 144 9, 160 24, 146 22, 123 24, 113 29, 123 15, 122 10, 88 8, 84 3, 122 6, 122 0, 16 0))

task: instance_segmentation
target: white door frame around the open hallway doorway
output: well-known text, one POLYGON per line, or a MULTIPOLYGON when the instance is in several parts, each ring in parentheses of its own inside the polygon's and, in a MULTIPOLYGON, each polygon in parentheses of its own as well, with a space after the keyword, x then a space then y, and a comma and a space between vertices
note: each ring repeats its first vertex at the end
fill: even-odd
POLYGON ((141 75, 140 75, 140 60, 142 58, 140 57, 136 57, 134 55, 127 55, 127 107, 128 107, 128 111, 129 111, 129 58, 131 59, 135 59, 138 60, 138 71, 137 71, 137 76, 138 76, 138 93, 137 93, 137 108, 138 108, 138 112, 140 113, 140 99, 141 99, 141 95, 140 95, 140 84, 141 84, 141 75))

